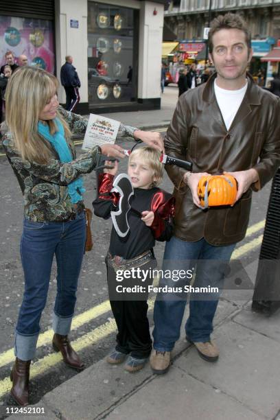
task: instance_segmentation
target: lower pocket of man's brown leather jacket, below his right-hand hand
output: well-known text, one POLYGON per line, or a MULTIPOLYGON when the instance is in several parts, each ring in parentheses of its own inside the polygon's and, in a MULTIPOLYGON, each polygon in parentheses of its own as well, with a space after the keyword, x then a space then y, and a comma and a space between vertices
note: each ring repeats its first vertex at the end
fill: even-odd
POLYGON ((246 233, 250 217, 251 196, 242 198, 234 207, 227 209, 224 219, 224 236, 246 233))

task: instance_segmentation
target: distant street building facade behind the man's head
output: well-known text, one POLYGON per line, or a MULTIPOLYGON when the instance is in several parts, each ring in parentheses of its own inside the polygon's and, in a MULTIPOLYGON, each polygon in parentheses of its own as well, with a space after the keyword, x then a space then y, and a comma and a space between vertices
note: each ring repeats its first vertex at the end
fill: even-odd
POLYGON ((204 30, 210 21, 226 12, 236 12, 248 23, 253 48, 250 72, 263 71, 269 80, 272 71, 279 71, 278 62, 264 60, 280 38, 280 0, 174 0, 165 10, 165 25, 176 34, 181 48, 184 41, 198 45, 205 43, 204 30))

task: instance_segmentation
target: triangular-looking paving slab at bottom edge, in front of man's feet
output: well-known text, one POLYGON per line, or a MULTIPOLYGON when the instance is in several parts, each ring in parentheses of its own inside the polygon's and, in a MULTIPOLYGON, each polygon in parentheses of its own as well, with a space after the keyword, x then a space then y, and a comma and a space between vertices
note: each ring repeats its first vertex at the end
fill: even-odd
MULTIPOLYGON (((177 363, 180 365, 180 358, 177 363)), ((265 419, 229 395, 196 380, 180 368, 143 386, 106 417, 107 420, 260 420, 265 419)))

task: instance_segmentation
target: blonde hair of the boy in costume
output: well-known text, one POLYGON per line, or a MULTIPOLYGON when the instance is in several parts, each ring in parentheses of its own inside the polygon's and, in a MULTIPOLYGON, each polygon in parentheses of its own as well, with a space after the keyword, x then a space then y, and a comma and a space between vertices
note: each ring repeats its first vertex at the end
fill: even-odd
POLYGON ((163 178, 163 163, 160 161, 161 152, 154 148, 150 148, 150 146, 143 146, 142 148, 132 151, 128 163, 130 163, 132 158, 136 157, 143 160, 152 169, 154 180, 151 184, 151 188, 159 185, 163 178))

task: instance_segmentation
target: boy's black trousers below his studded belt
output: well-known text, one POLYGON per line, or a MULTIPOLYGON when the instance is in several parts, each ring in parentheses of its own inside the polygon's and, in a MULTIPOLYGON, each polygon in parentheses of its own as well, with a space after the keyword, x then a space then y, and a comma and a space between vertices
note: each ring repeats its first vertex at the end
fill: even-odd
MULTIPOLYGON (((148 270, 149 268, 156 267, 156 260, 148 261, 148 263, 141 266, 141 270, 148 270)), ((113 288, 120 283, 115 281, 116 275, 115 270, 110 264, 107 263, 107 281, 109 297, 115 297, 113 288)), ((148 285, 152 284, 153 279, 146 279, 145 283, 141 283, 141 279, 133 281, 132 279, 126 279, 122 284, 124 286, 132 286, 135 283, 139 285, 145 285, 148 290, 148 285)), ((135 295, 134 295, 135 296, 135 295)), ((121 353, 131 353, 132 357, 137 359, 148 358, 152 350, 152 340, 150 337, 149 320, 147 317, 148 312, 148 292, 143 295, 136 296, 139 300, 131 300, 129 296, 126 296, 126 300, 112 300, 110 299, 110 305, 112 308, 115 321, 117 323, 117 351, 121 353)))

